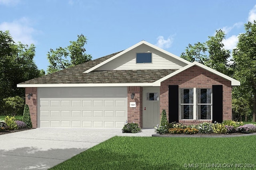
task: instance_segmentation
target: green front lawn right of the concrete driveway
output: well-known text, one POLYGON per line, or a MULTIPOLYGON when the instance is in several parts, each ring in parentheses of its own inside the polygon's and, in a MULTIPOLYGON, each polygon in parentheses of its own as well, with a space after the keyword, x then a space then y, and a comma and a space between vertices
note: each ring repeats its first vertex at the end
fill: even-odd
MULTIPOLYGON (((207 164, 256 166, 256 136, 228 138, 113 137, 51 170, 203 170, 207 164), (190 164, 190 165, 189 165, 190 164), (194 166, 192 167, 184 167, 194 166), (196 167, 197 166, 197 167, 196 167), (196 167, 196 168, 195 168, 196 167)), ((238 169, 256 169, 238 168, 238 169)))

